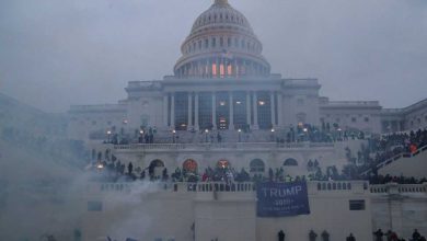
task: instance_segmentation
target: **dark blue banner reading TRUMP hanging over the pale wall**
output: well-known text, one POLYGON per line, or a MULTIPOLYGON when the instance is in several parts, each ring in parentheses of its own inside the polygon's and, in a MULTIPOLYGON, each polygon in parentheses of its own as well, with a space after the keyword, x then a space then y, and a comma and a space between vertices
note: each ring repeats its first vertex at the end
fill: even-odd
POLYGON ((256 187, 258 217, 309 215, 307 183, 261 183, 256 187))

